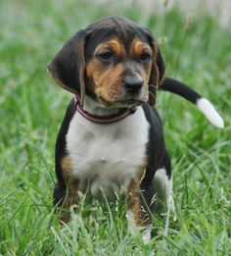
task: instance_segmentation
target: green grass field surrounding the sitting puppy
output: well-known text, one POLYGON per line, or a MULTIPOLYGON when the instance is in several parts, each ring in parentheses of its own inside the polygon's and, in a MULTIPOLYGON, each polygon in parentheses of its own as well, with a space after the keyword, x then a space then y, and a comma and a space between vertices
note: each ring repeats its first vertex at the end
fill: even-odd
POLYGON ((119 2, 0 2, 0 255, 231 255, 231 30, 196 16, 186 32, 186 20, 119 2), (66 230, 52 212, 54 144, 71 95, 46 66, 73 32, 112 14, 148 26, 167 75, 199 90, 225 121, 213 128, 188 102, 159 93, 177 221, 166 234, 154 217, 159 234, 148 245, 127 233, 121 202, 83 202, 66 230))

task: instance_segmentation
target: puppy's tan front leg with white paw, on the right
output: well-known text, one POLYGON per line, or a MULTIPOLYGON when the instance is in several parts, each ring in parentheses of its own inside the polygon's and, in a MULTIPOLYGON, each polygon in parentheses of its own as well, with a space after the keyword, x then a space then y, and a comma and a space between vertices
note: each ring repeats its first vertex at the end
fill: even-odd
POLYGON ((151 238, 150 216, 141 205, 139 181, 132 179, 127 188, 127 211, 126 218, 128 230, 135 234, 144 230, 142 239, 148 243, 151 238))

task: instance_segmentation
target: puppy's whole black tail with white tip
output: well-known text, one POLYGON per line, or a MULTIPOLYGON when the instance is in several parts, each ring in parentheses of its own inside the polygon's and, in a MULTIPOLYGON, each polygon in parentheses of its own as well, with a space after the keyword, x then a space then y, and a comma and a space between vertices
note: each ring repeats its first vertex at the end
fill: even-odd
POLYGON ((208 99, 204 98, 202 95, 200 95, 198 92, 183 82, 173 78, 165 77, 162 81, 160 89, 178 94, 186 100, 192 102, 206 116, 208 121, 214 127, 224 128, 223 119, 220 117, 208 99))

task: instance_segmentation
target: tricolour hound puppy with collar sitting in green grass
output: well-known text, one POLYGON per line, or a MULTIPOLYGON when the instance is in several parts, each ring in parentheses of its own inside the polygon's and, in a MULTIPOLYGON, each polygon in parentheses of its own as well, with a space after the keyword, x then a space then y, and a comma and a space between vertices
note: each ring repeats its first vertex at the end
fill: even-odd
POLYGON ((54 205, 66 210, 63 222, 78 191, 96 199, 124 195, 129 227, 150 226, 152 213, 173 209, 157 90, 195 104, 206 99, 164 72, 152 32, 120 17, 77 31, 49 64, 50 76, 74 94, 56 142, 54 205))

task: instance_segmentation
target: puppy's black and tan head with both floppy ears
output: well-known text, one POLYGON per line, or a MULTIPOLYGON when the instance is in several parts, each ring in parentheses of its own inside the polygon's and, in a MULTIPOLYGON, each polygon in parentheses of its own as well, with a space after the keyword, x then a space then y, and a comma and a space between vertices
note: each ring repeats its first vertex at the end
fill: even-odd
POLYGON ((152 33, 129 20, 104 18, 75 33, 48 65, 65 89, 85 93, 105 107, 155 104, 164 76, 162 54, 152 33))

